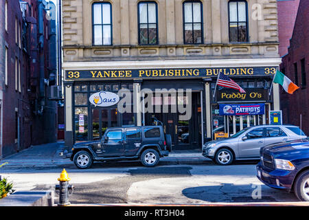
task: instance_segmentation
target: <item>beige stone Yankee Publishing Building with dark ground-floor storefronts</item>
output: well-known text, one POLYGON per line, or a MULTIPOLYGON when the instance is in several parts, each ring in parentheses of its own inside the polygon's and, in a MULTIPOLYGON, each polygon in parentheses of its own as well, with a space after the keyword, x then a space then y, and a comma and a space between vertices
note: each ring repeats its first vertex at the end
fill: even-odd
MULTIPOLYGON (((273 85, 268 96, 281 63, 278 45, 276 0, 64 0, 65 144, 98 139, 107 126, 157 119, 176 148, 190 148, 213 139, 216 131, 231 134, 266 124, 268 111, 279 110, 279 87, 273 85), (213 96, 220 72, 262 98, 222 100, 222 87, 213 96), (137 100, 146 88, 192 89, 193 116, 182 121, 179 113, 144 113, 138 111, 143 109, 139 102, 133 104, 134 113, 125 114, 116 106, 100 109, 89 102, 95 92, 121 88, 137 100), (264 113, 218 113, 220 104, 241 103, 264 104, 264 113)), ((177 101, 167 103, 186 98, 177 94, 177 101)), ((154 98, 152 104, 160 106, 163 100, 154 98)))

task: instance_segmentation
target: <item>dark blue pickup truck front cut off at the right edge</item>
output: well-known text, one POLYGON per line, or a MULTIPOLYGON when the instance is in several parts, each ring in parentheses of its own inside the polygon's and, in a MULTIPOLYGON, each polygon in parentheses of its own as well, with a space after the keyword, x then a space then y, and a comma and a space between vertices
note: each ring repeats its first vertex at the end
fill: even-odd
POLYGON ((264 146, 256 166, 258 179, 266 186, 294 192, 309 201, 309 140, 294 140, 264 146))

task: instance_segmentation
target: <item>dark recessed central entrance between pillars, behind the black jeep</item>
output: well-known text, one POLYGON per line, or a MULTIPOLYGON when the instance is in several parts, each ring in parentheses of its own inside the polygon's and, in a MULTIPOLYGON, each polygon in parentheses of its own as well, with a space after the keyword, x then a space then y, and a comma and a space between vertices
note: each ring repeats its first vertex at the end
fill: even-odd
POLYGON ((173 149, 200 148, 202 141, 201 128, 201 93, 192 92, 191 117, 188 120, 181 120, 185 113, 179 113, 178 104, 190 104, 189 96, 179 95, 170 97, 154 97, 154 113, 144 113, 145 125, 163 125, 164 132, 172 137, 173 149), (163 108, 167 108, 164 113, 163 108), (157 110, 160 110, 157 112, 157 110), (175 110, 176 109, 176 110, 175 110))

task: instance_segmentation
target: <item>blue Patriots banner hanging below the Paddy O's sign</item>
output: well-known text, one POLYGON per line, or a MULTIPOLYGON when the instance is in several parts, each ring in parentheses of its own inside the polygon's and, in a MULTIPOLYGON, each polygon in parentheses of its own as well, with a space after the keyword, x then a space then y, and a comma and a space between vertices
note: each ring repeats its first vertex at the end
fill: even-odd
POLYGON ((265 104, 220 104, 220 115, 264 115, 265 104))

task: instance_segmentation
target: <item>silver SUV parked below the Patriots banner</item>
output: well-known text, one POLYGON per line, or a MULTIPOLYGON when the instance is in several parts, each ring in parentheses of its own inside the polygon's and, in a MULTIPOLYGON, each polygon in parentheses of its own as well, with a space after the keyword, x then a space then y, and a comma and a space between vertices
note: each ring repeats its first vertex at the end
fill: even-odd
POLYGON ((238 131, 229 138, 207 142, 203 156, 220 165, 229 165, 238 159, 260 159, 260 148, 277 142, 298 140, 307 136, 298 126, 259 125, 238 131))

